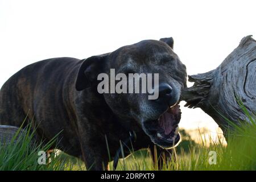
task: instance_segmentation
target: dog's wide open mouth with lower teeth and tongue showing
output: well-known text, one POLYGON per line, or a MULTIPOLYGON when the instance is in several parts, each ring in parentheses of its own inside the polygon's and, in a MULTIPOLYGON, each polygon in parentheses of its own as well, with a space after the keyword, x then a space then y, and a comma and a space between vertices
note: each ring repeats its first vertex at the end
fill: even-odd
POLYGON ((180 140, 178 133, 180 118, 180 106, 177 103, 168 108, 158 119, 144 122, 144 130, 152 142, 163 148, 171 148, 180 140))

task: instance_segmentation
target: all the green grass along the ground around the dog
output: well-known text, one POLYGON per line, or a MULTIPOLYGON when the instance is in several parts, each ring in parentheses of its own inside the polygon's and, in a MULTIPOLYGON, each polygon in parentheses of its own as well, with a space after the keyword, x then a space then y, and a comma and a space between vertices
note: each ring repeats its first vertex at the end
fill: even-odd
MULTIPOLYGON (((240 122, 236 125, 227 121, 233 126, 234 130, 229 131, 228 145, 223 144, 221 138, 209 141, 201 134, 200 144, 186 146, 188 150, 179 148, 178 154, 158 169, 151 159, 148 150, 133 152, 129 157, 120 159, 117 170, 256 170, 256 121, 255 116, 249 115, 245 107, 241 105, 243 111, 250 118, 250 122, 240 122), (210 158, 210 151, 216 154, 210 158), (177 160, 174 160, 174 159, 177 160)), ((19 132, 19 131, 18 131, 19 132)), ((52 139, 47 144, 36 145, 33 142, 30 127, 26 127, 26 132, 21 137, 16 137, 6 147, 0 146, 0 170, 85 170, 81 160, 68 156, 60 152, 51 162, 46 165, 38 164, 38 152, 47 151, 55 142, 52 139)), ((113 162, 110 162, 110 170, 113 170, 113 162)))

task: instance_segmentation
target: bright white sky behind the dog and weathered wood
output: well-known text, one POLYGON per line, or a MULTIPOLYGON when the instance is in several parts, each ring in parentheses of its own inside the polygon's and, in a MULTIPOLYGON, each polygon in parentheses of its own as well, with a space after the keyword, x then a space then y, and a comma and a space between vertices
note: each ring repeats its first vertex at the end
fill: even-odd
MULTIPOLYGON (((256 33, 256 1, 0 0, 0 86, 15 72, 51 57, 111 52, 144 39, 172 36, 188 75, 208 72, 246 35, 256 33)), ((191 84, 189 84, 191 85, 191 84)), ((216 123, 182 109, 181 127, 216 123)))

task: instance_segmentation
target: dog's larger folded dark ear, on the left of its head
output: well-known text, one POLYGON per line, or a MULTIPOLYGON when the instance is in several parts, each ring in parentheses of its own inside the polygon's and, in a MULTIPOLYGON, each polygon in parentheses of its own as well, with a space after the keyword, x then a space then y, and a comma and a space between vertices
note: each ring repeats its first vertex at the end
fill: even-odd
POLYGON ((89 88, 97 82, 98 74, 104 72, 106 57, 92 56, 82 62, 76 78, 77 91, 89 88))

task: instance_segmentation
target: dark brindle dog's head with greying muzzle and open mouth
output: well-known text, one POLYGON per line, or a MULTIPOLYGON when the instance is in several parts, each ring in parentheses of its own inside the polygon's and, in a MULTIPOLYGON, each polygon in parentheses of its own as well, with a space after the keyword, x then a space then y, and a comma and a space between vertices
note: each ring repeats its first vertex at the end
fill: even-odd
POLYGON ((137 122, 152 142, 170 148, 180 140, 179 101, 187 79, 185 65, 174 53, 173 43, 172 38, 143 40, 112 53, 89 57, 80 67, 76 89, 104 88, 105 101, 118 118, 137 122), (139 93, 135 92, 136 78, 130 77, 135 73, 139 76, 139 93), (143 75, 146 93, 142 91, 143 75), (102 80, 109 85, 102 86, 102 80))

